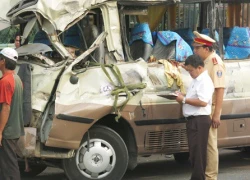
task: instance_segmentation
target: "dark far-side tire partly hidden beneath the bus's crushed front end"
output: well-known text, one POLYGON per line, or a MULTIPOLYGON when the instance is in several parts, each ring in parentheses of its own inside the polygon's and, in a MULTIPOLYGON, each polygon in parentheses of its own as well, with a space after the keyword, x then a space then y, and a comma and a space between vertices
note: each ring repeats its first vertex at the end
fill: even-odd
POLYGON ((21 177, 35 177, 47 168, 44 164, 30 164, 31 171, 25 172, 25 163, 18 162, 18 165, 21 177))

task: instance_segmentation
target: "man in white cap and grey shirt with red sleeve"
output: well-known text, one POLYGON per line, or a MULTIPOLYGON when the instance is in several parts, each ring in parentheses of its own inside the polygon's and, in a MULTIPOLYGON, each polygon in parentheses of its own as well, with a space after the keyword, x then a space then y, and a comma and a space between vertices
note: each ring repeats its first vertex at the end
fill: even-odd
POLYGON ((17 52, 4 48, 0 52, 0 179, 20 180, 17 141, 24 135, 23 85, 15 74, 17 52))

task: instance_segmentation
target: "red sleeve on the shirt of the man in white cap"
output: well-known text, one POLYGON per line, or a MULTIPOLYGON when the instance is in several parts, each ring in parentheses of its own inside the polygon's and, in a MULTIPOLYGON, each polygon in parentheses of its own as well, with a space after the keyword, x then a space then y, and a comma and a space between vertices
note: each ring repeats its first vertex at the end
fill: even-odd
POLYGON ((11 105, 14 94, 15 79, 13 73, 6 73, 0 80, 0 103, 11 105))

